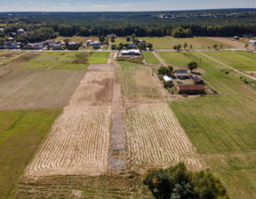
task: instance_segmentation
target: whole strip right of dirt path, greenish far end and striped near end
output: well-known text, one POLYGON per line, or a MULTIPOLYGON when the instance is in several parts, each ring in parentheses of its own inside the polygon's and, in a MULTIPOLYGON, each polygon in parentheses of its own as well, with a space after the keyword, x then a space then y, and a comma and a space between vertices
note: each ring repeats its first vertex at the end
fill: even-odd
POLYGON ((200 169, 203 163, 180 127, 162 95, 151 71, 145 66, 120 62, 125 101, 128 144, 127 166, 145 171, 182 161, 200 169))

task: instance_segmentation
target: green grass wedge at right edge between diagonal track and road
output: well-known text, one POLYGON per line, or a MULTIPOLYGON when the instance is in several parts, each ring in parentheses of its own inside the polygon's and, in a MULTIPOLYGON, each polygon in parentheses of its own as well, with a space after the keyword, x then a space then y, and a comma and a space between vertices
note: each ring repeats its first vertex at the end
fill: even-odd
MULTIPOLYGON (((240 54, 240 52, 204 52, 210 57, 220 60, 232 68, 241 71, 256 70, 256 60, 240 54)), ((251 55, 252 56, 252 55, 251 55)))

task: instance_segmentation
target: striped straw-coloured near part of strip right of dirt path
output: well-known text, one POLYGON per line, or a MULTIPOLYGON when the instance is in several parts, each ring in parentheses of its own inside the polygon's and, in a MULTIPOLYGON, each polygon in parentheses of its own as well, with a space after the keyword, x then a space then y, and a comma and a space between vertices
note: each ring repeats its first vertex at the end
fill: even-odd
POLYGON ((135 171, 179 162, 196 169, 203 167, 196 148, 166 103, 128 108, 126 131, 129 166, 135 171))

